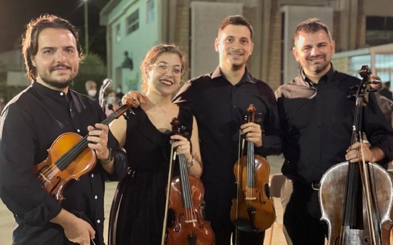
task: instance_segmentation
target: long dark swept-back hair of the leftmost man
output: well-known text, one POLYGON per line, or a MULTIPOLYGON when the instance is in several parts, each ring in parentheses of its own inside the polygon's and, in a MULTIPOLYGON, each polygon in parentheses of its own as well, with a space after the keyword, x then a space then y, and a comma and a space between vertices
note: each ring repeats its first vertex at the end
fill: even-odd
POLYGON ((67 29, 75 37, 79 58, 82 60, 82 47, 78 40, 78 30, 69 21, 64 20, 55 15, 44 14, 37 19, 31 20, 26 28, 22 38, 22 53, 25 58, 25 66, 28 78, 32 81, 37 79, 37 70, 31 62, 31 56, 37 54, 38 51, 38 35, 45 28, 67 29))

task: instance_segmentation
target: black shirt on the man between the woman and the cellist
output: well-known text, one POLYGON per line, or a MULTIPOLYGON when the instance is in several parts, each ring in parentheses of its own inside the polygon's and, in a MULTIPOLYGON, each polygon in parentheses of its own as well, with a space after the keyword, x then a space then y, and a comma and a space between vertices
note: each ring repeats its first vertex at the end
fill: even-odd
POLYGON ((277 103, 272 89, 247 69, 242 79, 232 85, 217 67, 213 73, 186 82, 173 100, 190 107, 197 120, 206 206, 230 207, 236 194, 233 166, 238 160, 239 129, 250 104, 256 107, 256 114, 261 113, 261 120, 255 123, 263 130, 263 146, 255 148, 255 153, 266 156, 281 152, 277 103))

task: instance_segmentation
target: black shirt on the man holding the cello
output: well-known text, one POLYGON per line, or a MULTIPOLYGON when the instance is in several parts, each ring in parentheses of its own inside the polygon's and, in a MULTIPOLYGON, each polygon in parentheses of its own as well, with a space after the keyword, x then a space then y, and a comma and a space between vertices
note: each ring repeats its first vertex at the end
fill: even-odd
MULTIPOLYGON (((351 145, 355 94, 360 80, 332 68, 314 85, 303 71, 276 91, 285 162, 282 173, 300 183, 319 182, 332 166, 345 161, 351 145)), ((375 96, 363 110, 363 131, 371 146, 393 159, 393 130, 375 96)))

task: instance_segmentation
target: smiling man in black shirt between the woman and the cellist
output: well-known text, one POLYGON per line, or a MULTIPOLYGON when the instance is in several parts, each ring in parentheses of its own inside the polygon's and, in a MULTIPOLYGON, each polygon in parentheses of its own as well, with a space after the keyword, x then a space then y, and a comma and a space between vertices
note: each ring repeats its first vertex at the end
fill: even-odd
MULTIPOLYGON (((206 219, 211 221, 216 244, 230 243, 231 200, 236 196, 234 163, 238 159, 239 129, 255 144, 255 154, 280 154, 277 104, 272 89, 247 70, 253 51, 253 28, 242 16, 228 16, 215 41, 220 54, 213 73, 188 81, 173 99, 191 108, 197 119, 203 162, 206 219), (261 120, 244 123, 250 104, 261 120), (243 124, 244 123, 244 124, 243 124)), ((240 232, 240 244, 262 245, 264 232, 240 232)))

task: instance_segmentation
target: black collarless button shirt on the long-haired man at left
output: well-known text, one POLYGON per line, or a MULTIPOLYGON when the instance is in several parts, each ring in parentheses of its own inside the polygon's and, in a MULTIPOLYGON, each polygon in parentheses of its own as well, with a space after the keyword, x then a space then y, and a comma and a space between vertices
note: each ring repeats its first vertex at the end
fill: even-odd
POLYGON ((15 245, 66 243, 62 227, 50 222, 61 208, 89 220, 96 230, 95 243, 104 244, 104 180, 124 176, 126 171, 126 162, 121 160, 125 154, 117 150, 112 133, 108 144, 113 148, 115 173, 109 176, 97 164, 79 181, 69 182, 61 205, 41 189, 31 172, 60 134, 85 136, 88 125, 104 119, 94 100, 72 90, 65 95, 37 82, 8 103, 0 117, 0 196, 17 222, 15 245))

